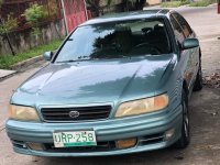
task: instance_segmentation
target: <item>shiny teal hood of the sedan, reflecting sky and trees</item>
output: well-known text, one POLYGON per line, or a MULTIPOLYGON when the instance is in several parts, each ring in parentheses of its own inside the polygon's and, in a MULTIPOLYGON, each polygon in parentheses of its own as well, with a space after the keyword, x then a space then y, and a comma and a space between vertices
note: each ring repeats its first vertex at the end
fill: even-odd
POLYGON ((26 106, 120 102, 153 96, 173 54, 50 64, 12 97, 26 106))

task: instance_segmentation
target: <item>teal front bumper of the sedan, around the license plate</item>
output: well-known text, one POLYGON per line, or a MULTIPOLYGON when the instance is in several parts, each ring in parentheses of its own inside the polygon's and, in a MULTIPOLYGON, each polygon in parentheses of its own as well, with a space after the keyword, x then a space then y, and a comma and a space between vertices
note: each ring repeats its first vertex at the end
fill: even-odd
POLYGON ((78 123, 28 123, 14 120, 7 122, 7 132, 15 152, 36 156, 105 156, 129 154, 144 151, 163 148, 172 145, 180 138, 182 106, 174 110, 161 111, 140 117, 103 120, 97 122, 78 123), (174 129, 174 135, 164 140, 166 131, 174 129), (57 150, 53 145, 53 132, 95 130, 97 142, 114 142, 123 139, 136 138, 134 147, 105 150, 57 150), (43 151, 31 150, 26 143, 41 143, 43 151), (50 145, 50 148, 47 147, 50 145))

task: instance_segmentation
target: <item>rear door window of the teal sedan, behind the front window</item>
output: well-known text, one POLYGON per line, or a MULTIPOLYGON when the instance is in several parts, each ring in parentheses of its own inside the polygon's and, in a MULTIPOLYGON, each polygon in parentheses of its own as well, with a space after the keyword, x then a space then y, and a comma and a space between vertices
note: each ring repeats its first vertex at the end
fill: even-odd
POLYGON ((187 23, 187 21, 178 13, 173 13, 173 16, 178 21, 178 23, 180 24, 184 34, 186 37, 189 37, 193 34, 193 31, 189 26, 189 24, 187 23))

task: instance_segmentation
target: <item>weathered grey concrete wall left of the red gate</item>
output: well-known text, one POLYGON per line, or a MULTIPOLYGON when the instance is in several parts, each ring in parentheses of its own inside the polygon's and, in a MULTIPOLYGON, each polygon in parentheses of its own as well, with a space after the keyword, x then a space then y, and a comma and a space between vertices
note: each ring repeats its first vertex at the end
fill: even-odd
MULTIPOLYGON (((14 52, 23 52, 34 46, 47 44, 53 40, 64 37, 66 35, 64 21, 57 21, 40 26, 42 36, 35 37, 32 35, 32 29, 26 29, 20 32, 9 34, 14 52)), ((0 36, 0 55, 11 54, 11 50, 6 37, 0 36)))

